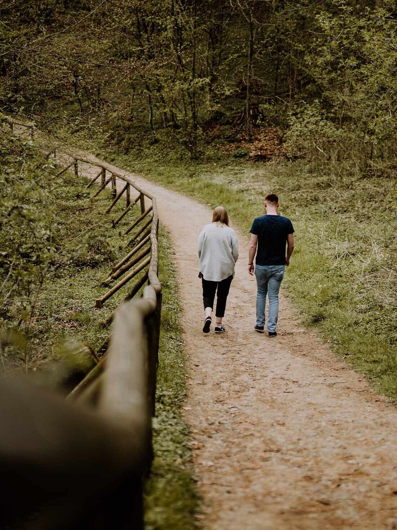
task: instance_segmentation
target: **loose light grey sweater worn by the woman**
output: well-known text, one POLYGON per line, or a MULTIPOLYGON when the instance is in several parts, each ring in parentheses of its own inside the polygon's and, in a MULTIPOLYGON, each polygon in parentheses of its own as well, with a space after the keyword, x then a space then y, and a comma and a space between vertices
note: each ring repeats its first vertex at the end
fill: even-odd
POLYGON ((205 280, 222 281, 234 275, 239 242, 233 228, 222 223, 205 225, 199 236, 198 253, 205 280))

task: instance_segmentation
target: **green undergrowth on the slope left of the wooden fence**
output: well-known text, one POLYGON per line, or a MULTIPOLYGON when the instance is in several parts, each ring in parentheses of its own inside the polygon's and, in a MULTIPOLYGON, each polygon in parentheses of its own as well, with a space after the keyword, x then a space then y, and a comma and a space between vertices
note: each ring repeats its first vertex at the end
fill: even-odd
MULTIPOLYGON (((101 325, 128 293, 122 288, 96 310, 94 300, 112 265, 125 251, 110 229, 110 191, 92 199, 86 180, 70 173, 56 177, 54 161, 38 146, 14 135, 3 122, 0 148, 0 354, 5 370, 43 367, 67 343, 94 349, 108 337, 101 325), (63 345, 62 348, 60 345, 63 345)), ((118 216, 121 200, 112 210, 118 216)), ((138 210, 123 219, 123 231, 138 210)))

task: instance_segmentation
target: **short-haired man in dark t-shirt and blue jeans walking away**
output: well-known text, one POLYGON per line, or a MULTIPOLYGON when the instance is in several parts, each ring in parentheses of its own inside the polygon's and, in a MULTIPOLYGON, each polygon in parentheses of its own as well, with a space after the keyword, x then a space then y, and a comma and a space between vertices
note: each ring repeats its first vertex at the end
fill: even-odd
POLYGON ((279 204, 275 193, 264 198, 266 215, 254 219, 251 227, 251 243, 248 258, 248 272, 255 271, 257 278, 257 323, 254 330, 264 332, 264 310, 266 295, 269 298, 268 333, 276 337, 278 320, 278 291, 284 277, 285 266, 294 251, 294 227, 288 219, 278 215, 279 204), (287 253, 285 248, 287 245, 287 253), (258 252, 257 252, 258 249, 258 252), (254 256, 257 252, 257 259, 254 256))

